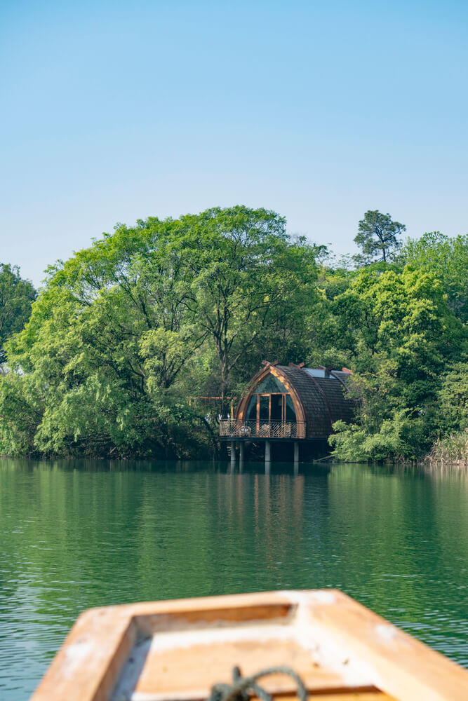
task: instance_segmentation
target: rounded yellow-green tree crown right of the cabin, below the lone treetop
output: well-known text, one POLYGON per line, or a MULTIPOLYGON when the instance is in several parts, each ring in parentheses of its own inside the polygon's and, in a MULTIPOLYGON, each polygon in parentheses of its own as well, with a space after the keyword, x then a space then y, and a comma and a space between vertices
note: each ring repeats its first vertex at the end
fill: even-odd
POLYGON ((375 356, 385 353, 409 379, 415 369, 437 369, 439 349, 447 355, 462 338, 436 275, 410 266, 401 274, 361 271, 335 298, 333 312, 356 369, 375 365, 375 356))

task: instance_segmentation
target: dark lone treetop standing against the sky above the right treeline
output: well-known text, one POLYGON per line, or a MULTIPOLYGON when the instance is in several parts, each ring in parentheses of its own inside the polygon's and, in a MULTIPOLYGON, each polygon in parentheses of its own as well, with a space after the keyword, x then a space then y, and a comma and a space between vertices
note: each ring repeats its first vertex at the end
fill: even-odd
POLYGON ((406 231, 406 226, 393 222, 389 214, 382 215, 379 210, 368 210, 359 222, 358 233, 354 241, 361 247, 363 255, 354 256, 358 263, 392 259, 401 242, 396 238, 406 231))

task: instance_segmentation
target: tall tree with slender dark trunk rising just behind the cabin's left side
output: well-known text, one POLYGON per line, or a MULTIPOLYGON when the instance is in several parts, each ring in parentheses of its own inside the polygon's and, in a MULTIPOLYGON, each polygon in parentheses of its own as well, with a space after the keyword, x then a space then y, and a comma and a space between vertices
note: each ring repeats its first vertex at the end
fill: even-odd
POLYGON ((265 336, 284 332, 314 303, 322 249, 291 240, 275 212, 240 205, 181 217, 180 226, 181 256, 192 274, 189 307, 215 346, 224 415, 236 365, 255 358, 265 336))

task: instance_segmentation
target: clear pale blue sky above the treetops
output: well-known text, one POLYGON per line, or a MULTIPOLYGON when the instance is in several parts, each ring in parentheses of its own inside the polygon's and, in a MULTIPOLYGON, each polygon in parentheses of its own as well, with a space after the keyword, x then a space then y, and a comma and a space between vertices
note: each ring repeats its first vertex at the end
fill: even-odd
POLYGON ((368 209, 467 233, 467 34, 466 0, 0 0, 0 261, 237 203, 338 254, 368 209))

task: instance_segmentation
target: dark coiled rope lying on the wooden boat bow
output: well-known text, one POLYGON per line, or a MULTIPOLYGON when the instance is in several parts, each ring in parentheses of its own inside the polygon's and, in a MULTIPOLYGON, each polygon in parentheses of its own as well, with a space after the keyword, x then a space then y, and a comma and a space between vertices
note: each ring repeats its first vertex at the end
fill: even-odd
POLYGON ((307 690, 304 682, 293 669, 289 667, 269 667, 252 676, 242 676, 239 667, 232 670, 232 684, 218 683, 211 687, 210 697, 206 701, 248 701, 251 696, 257 696, 261 701, 272 701, 272 696, 259 686, 256 681, 269 674, 287 674, 296 683, 296 694, 299 701, 307 701, 307 690))

